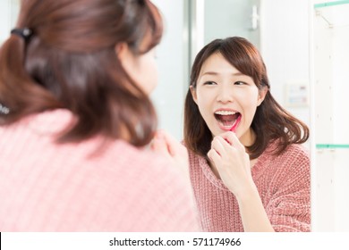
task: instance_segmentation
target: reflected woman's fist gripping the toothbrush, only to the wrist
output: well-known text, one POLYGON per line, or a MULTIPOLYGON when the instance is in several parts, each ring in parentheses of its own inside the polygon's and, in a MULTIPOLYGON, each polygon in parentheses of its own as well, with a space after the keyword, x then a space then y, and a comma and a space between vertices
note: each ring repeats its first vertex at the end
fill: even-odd
POLYGON ((234 196, 243 196, 245 191, 254 187, 249 154, 234 132, 229 131, 214 137, 208 156, 234 196))

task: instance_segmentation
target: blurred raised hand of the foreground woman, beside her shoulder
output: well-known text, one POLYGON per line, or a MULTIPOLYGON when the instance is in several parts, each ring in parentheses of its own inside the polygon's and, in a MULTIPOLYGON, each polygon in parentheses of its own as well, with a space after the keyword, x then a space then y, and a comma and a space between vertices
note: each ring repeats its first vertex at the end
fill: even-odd
POLYGON ((185 146, 180 144, 174 137, 163 130, 157 131, 151 145, 151 149, 163 154, 174 167, 183 172, 185 179, 190 180, 189 176, 189 158, 188 151, 185 146))

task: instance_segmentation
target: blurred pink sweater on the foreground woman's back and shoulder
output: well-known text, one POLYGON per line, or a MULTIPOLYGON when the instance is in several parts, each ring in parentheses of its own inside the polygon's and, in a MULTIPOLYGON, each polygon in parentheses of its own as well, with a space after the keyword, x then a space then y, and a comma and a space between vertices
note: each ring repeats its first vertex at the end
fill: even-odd
POLYGON ((57 145, 57 110, 0 127, 0 231, 197 231, 179 171, 123 141, 57 145))

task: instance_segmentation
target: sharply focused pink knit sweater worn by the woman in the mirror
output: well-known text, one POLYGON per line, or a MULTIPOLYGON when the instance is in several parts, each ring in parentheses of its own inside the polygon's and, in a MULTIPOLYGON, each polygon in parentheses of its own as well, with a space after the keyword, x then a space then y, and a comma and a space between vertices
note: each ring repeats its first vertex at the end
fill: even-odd
MULTIPOLYGON (((289 146, 279 155, 272 148, 252 167, 252 178, 276 231, 310 231, 310 159, 304 148, 289 146)), ((190 153, 191 179, 200 221, 205 231, 243 231, 237 201, 217 179, 203 157, 190 153)))

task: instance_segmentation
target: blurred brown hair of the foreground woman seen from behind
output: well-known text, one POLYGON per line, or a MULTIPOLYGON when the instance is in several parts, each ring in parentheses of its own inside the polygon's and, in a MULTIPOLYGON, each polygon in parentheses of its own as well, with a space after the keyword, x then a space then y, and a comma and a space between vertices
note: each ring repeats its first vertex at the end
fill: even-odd
POLYGON ((126 42, 134 54, 146 53, 159 42, 162 25, 149 0, 22 1, 16 26, 32 36, 12 35, 1 47, 0 104, 10 112, 0 112, 0 125, 64 108, 78 119, 60 142, 126 132, 133 145, 148 144, 155 109, 123 70, 115 45, 126 42))

